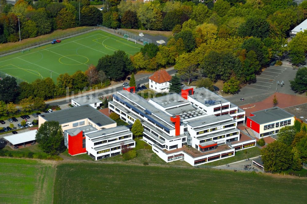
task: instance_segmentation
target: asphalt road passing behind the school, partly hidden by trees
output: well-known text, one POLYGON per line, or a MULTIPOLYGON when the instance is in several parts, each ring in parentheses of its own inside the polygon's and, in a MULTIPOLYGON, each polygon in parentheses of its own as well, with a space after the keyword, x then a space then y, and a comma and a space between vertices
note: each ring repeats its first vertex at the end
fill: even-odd
MULTIPOLYGON (((167 72, 170 75, 172 75, 172 74, 175 74, 177 72, 177 70, 169 69, 167 72)), ((148 78, 151 75, 152 74, 136 74, 136 75, 134 75, 135 82, 136 82, 136 87, 139 87, 139 86, 144 85, 144 84, 148 84, 149 83, 149 79, 148 78)), ((125 80, 123 82, 128 82, 128 80, 125 80)), ((108 89, 95 90, 94 92, 86 92, 84 94, 85 95, 91 94, 91 95, 93 95, 95 97, 101 97, 101 96, 111 95, 112 93, 116 93, 119 90, 122 90, 122 83, 114 85, 114 86, 111 86, 108 89)), ((76 97, 80 97, 80 96, 76 96, 76 97)), ((69 102, 71 102, 71 97, 66 97, 66 98, 63 98, 63 99, 52 100, 50 102, 46 102, 46 104, 49 104, 49 105, 64 105, 64 104, 68 104, 69 102)))

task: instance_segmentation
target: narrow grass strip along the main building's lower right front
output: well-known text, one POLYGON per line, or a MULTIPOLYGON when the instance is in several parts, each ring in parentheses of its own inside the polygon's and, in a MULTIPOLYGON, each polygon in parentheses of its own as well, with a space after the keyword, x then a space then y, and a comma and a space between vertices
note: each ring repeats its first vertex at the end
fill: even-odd
POLYGON ((253 148, 250 148, 250 149, 244 149, 242 151, 235 152, 234 157, 229 157, 229 158, 222 159, 222 160, 219 160, 219 161, 213 161, 213 162, 210 162, 210 163, 204 164, 204 165, 220 166, 220 165, 229 164, 229 163, 232 163, 232 162, 235 162, 235 161, 241 161, 241 160, 244 160, 244 159, 257 157, 259 155, 261 155, 260 149, 258 147, 253 147, 253 148), (247 153, 245 153, 245 151, 247 153))

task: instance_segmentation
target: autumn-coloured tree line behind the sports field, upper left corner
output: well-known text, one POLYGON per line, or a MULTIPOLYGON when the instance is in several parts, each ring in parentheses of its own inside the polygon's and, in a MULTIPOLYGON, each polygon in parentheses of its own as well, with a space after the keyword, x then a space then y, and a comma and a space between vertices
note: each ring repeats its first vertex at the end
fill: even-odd
POLYGON ((0 43, 19 41, 19 25, 20 37, 26 39, 56 29, 95 26, 102 22, 101 11, 89 6, 88 0, 18 0, 14 5, 1 0, 0 3, 0 43))

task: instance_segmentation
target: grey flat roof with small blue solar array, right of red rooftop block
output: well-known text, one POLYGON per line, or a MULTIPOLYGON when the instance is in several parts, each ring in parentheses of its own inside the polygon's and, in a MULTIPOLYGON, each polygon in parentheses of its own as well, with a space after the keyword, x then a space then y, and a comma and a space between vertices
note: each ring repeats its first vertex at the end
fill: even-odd
POLYGON ((225 100, 222 96, 213 93, 212 91, 205 89, 204 87, 194 89, 193 95, 189 95, 191 98, 197 100, 198 102, 204 104, 207 107, 217 105, 217 104, 223 104, 223 103, 229 103, 228 100, 225 100), (210 103, 207 103, 209 101, 210 103), (215 102, 215 103, 211 103, 215 102))

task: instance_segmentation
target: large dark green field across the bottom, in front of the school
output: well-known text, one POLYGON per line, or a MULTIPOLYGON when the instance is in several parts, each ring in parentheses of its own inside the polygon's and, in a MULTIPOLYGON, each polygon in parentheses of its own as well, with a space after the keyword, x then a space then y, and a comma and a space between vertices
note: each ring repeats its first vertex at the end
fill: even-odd
POLYGON ((307 180, 211 169, 60 164, 54 203, 305 203, 307 180))

